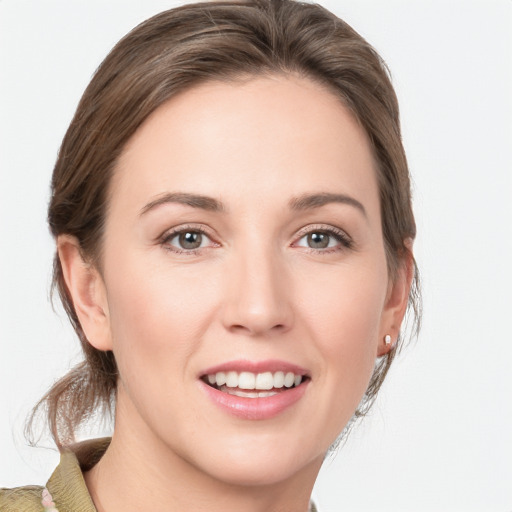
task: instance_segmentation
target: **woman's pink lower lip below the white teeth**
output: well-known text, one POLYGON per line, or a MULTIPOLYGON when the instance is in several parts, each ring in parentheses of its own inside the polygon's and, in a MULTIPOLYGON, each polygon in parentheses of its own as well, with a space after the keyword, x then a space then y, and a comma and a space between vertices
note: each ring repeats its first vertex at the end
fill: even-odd
POLYGON ((279 391, 272 396, 246 398, 224 393, 200 381, 202 388, 215 405, 233 416, 246 420, 267 420, 278 416, 302 398, 308 383, 309 380, 296 388, 279 391))

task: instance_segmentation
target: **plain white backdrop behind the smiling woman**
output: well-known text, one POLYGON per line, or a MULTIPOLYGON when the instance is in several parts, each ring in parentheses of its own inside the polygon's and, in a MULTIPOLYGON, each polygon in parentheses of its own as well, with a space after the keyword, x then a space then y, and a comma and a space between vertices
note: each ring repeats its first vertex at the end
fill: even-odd
MULTIPOLYGON (((414 177, 419 340, 314 497, 321 512, 512 511, 512 1, 326 0, 391 68, 414 177)), ((76 362, 48 300, 60 141, 93 71, 163 0, 0 0, 0 485, 58 455, 22 429, 76 362)), ((278 455, 277 455, 278 456, 278 455)))

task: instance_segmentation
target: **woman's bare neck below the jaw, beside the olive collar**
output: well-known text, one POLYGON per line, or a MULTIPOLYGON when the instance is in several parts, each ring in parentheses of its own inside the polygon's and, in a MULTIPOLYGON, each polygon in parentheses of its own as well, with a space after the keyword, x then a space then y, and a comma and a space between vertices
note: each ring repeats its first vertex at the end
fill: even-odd
POLYGON ((161 440, 116 422, 112 442, 85 481, 98 512, 307 512, 322 460, 277 482, 226 482, 201 471, 161 440))

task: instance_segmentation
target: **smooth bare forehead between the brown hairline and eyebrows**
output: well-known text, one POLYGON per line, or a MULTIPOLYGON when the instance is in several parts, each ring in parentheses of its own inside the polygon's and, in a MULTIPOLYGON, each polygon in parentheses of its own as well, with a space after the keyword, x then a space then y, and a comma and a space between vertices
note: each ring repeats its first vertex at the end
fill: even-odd
POLYGON ((176 190, 233 200, 249 192, 275 202, 312 189, 378 202, 370 144, 327 88, 279 75, 208 82, 170 99, 128 142, 111 197, 142 207, 176 190))

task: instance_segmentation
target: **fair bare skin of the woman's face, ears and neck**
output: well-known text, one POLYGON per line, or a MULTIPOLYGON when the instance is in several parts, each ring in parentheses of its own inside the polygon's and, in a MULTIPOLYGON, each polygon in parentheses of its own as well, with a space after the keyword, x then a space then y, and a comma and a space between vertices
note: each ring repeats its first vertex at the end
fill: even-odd
POLYGON ((101 272, 76 240, 61 236, 58 248, 88 340, 113 350, 120 372, 112 444, 85 475, 98 510, 305 512, 326 451, 390 349, 384 336, 397 337, 410 286, 407 264, 389 279, 374 160, 339 99, 293 76, 174 97, 120 158, 101 272), (224 211, 151 207, 169 193, 224 211), (325 193, 364 212, 290 206, 325 193), (174 228, 204 230, 202 246, 183 249, 174 228), (328 247, 310 247, 308 233, 328 247), (296 364, 310 381, 277 416, 239 418, 198 378, 239 359, 296 364))

